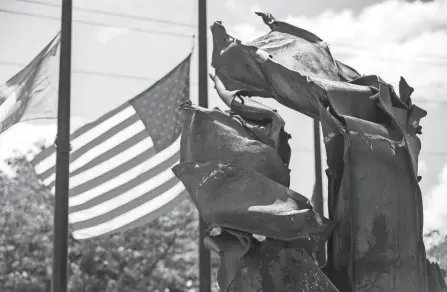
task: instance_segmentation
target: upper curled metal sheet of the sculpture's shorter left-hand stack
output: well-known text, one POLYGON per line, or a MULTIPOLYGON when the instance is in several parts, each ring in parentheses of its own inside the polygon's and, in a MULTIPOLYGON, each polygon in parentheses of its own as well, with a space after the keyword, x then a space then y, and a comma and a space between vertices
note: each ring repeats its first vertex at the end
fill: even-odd
POLYGON ((257 171, 289 186, 290 175, 275 150, 274 140, 265 132, 254 132, 247 121, 218 109, 184 104, 187 122, 182 132, 180 161, 223 161, 257 171))

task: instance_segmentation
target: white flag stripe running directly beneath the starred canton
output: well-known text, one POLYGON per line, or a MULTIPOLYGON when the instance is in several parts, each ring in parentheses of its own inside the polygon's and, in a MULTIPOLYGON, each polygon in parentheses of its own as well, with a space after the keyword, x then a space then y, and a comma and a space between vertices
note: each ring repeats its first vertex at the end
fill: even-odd
POLYGON ((89 182, 90 188, 86 188, 84 186, 82 191, 80 191, 81 189, 79 187, 73 188, 73 193, 70 196, 70 205, 77 206, 83 204, 95 197, 98 197, 106 192, 118 188, 122 184, 131 181, 132 179, 138 177, 144 171, 156 167, 158 164, 175 155, 179 151, 180 143, 178 142, 179 140, 177 140, 175 143, 173 143, 163 151, 159 152, 157 155, 150 157, 144 162, 141 162, 136 167, 126 172, 120 173, 119 175, 114 176, 109 180, 102 180, 101 184, 98 184, 96 182, 94 184, 91 184, 89 182))

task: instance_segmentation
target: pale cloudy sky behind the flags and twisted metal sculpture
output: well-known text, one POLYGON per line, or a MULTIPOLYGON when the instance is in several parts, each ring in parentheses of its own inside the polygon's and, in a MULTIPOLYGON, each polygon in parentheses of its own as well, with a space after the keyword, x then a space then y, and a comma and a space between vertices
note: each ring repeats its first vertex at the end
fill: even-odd
MULTIPOLYGON (((74 127, 132 98, 191 51, 197 33, 196 0, 74 0, 72 117, 74 127), (82 8, 82 9, 80 9, 82 8), (93 11, 93 12, 92 12, 93 11), (94 11, 122 13, 118 17, 94 11), (151 22, 148 18, 158 19, 151 22), (169 24, 170 21, 183 25, 169 24), (90 22, 99 23, 92 25, 90 22), (161 33, 160 33, 161 32, 161 33)), ((254 11, 316 33, 335 57, 361 74, 397 85, 404 76, 416 104, 428 111, 419 174, 426 230, 447 234, 447 1, 225 0, 208 1, 208 24, 220 20, 249 41, 268 32, 254 11), (445 229, 445 230, 444 230, 445 229)), ((29 62, 59 31, 60 0, 0 0, 0 83, 29 62), (5 65, 6 61, 9 64, 5 65)), ((211 57, 208 33, 208 57, 211 57)), ((212 68, 209 68, 213 72, 212 68)), ((197 48, 191 99, 197 101, 197 48)), ((210 106, 226 108, 209 84, 210 106)), ((310 196, 314 183, 312 121, 274 101, 292 134, 291 188, 310 196), (300 125, 297 127, 296 125, 300 125)), ((0 158, 22 153, 36 141, 54 140, 48 124, 21 124, 0 136, 0 158)), ((325 158, 323 151, 323 159, 325 158)))

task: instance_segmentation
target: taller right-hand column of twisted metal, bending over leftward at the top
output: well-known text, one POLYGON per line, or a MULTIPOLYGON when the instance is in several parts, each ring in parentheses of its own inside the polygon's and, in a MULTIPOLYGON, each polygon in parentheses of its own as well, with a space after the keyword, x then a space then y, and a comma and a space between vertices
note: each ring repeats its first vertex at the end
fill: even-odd
POLYGON ((273 97, 321 120, 335 224, 331 279, 341 291, 429 291, 416 136, 426 112, 412 104, 413 89, 402 79, 398 96, 336 61, 314 34, 260 15, 272 31, 250 43, 212 26, 212 64, 229 91, 273 97))

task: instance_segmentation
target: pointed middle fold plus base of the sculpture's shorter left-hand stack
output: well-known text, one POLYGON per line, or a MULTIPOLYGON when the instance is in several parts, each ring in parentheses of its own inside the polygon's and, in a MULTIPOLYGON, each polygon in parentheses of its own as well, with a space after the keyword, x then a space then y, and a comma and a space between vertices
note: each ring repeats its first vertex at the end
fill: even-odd
POLYGON ((173 171, 209 229, 222 230, 205 241, 221 254, 221 291, 338 291, 309 256, 328 225, 305 197, 221 161, 183 162, 173 171))

